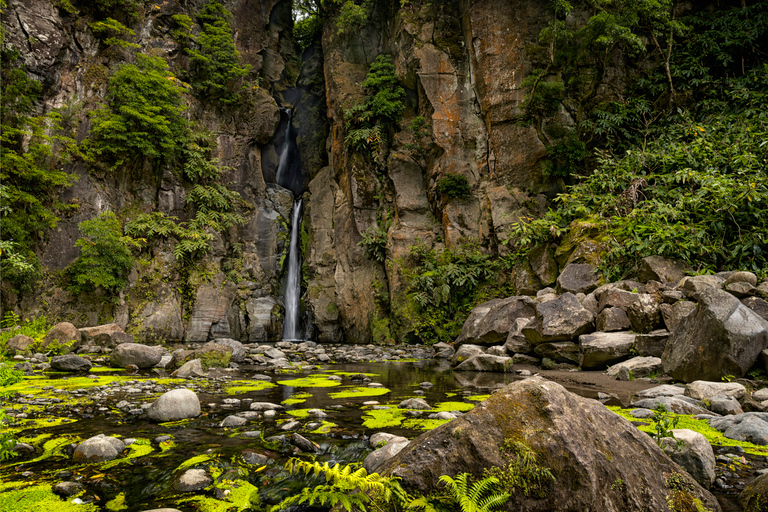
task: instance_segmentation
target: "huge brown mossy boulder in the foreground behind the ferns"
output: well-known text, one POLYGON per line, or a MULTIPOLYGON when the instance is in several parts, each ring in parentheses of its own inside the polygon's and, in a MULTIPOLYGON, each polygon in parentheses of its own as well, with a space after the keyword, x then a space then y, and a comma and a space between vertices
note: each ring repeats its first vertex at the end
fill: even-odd
POLYGON ((544 479, 529 496, 513 493, 506 510, 669 510, 676 490, 688 494, 682 498, 720 510, 717 500, 647 434, 599 402, 540 377, 515 382, 421 435, 379 473, 401 478, 407 491, 428 495, 441 488, 441 475, 479 476, 485 468, 505 468, 526 454, 549 468, 554 481, 544 479))

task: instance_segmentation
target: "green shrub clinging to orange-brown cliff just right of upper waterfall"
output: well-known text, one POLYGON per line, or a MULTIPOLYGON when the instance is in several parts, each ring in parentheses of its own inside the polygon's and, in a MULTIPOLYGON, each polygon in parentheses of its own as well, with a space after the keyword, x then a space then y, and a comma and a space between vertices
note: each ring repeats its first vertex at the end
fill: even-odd
POLYGON ((389 55, 379 55, 368 71, 363 88, 368 96, 344 111, 347 148, 368 156, 397 125, 405 111, 405 90, 398 85, 395 65, 389 55))

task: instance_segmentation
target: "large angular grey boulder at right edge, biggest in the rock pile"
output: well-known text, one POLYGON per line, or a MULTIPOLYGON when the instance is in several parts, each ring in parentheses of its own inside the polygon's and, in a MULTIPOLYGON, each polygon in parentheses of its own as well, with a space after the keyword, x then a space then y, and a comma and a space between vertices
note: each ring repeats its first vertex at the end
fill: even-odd
POLYGON ((661 359, 664 372, 676 380, 717 382, 726 375, 742 377, 767 346, 768 321, 710 287, 672 333, 661 359))

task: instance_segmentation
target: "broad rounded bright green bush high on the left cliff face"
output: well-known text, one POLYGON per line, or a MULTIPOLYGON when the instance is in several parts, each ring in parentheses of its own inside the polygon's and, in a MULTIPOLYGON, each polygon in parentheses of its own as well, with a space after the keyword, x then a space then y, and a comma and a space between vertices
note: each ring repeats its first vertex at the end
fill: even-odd
POLYGON ((107 105, 91 116, 88 151, 115 166, 137 157, 171 162, 178 157, 188 133, 182 114, 184 84, 160 57, 136 56, 109 80, 107 105))

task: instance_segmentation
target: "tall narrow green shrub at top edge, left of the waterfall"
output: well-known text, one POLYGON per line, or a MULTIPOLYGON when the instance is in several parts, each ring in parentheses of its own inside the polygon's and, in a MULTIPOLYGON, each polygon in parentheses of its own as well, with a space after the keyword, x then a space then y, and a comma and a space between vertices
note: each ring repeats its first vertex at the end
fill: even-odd
POLYGON ((212 0, 197 15, 202 27, 195 44, 187 50, 193 93, 202 100, 234 104, 250 66, 243 66, 235 48, 231 25, 232 13, 212 0))

